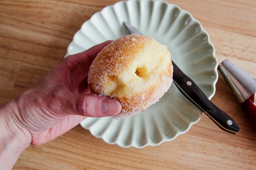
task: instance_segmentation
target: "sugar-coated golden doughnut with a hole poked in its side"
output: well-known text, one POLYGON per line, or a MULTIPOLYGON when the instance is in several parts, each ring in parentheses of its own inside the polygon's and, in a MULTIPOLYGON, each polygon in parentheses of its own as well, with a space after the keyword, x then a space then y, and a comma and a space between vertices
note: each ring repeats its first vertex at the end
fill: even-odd
POLYGON ((167 47, 143 35, 127 35, 109 45, 92 62, 88 85, 91 94, 118 99, 115 119, 145 111, 159 101, 172 83, 172 62, 167 47))

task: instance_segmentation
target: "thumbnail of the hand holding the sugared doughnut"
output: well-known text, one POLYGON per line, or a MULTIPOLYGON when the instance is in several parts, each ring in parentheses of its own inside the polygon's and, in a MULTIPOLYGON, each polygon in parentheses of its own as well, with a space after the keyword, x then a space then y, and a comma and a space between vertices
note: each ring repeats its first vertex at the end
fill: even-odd
POLYGON ((121 112, 122 106, 117 99, 103 99, 100 102, 102 115, 114 116, 121 112))

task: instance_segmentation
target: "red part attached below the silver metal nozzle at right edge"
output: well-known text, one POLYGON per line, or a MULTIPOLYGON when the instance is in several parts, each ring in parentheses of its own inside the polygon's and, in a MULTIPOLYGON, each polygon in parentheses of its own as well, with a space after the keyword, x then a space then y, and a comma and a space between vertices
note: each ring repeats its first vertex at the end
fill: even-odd
POLYGON ((254 132, 256 133, 256 105, 255 94, 249 97, 244 103, 242 103, 242 109, 245 112, 249 122, 252 125, 254 132))

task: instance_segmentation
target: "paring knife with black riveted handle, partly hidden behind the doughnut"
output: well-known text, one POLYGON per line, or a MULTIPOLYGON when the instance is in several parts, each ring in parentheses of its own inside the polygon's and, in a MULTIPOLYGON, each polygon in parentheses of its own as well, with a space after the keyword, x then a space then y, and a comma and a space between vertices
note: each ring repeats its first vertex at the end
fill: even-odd
MULTIPOLYGON (((130 23, 124 22, 124 25, 131 34, 143 35, 130 23)), ((210 119, 213 120, 222 130, 229 133, 237 133, 241 129, 236 122, 223 112, 220 108, 214 105, 205 94, 199 89, 195 82, 184 74, 179 67, 173 62, 173 82, 178 87, 184 96, 186 96, 192 103, 194 103, 202 112, 204 112, 210 119)))

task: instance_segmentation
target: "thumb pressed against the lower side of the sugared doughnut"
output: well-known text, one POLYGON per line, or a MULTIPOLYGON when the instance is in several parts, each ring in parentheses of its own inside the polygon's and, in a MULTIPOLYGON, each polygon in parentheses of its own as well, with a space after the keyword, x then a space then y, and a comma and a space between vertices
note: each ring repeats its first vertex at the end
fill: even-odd
MULTIPOLYGON (((97 95, 73 93, 68 98, 70 114, 87 117, 114 116, 121 112, 122 105, 117 99, 97 95)), ((67 103, 65 102, 64 105, 67 103)))

